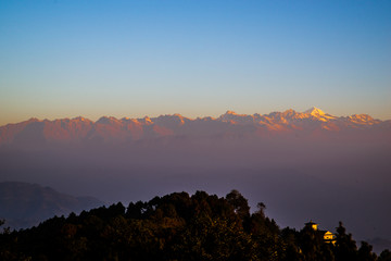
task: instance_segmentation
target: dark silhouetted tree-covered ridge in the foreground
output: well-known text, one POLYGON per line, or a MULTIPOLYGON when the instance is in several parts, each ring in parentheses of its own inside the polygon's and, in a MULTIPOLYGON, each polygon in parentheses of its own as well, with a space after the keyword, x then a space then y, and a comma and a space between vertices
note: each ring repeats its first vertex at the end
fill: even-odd
POLYGON ((281 260, 370 261, 379 257, 365 241, 357 247, 342 223, 336 244, 304 226, 280 229, 264 214, 250 213, 237 190, 225 198, 175 192, 149 202, 121 202, 53 217, 37 227, 0 235, 1 260, 281 260))

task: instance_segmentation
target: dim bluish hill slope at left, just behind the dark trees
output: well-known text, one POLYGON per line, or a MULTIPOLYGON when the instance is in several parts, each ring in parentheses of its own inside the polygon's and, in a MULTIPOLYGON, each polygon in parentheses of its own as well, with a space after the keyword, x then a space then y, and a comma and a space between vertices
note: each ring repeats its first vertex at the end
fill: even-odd
POLYGON ((92 197, 73 197, 36 184, 0 183, 0 219, 5 226, 26 228, 54 215, 67 215, 103 206, 92 197))

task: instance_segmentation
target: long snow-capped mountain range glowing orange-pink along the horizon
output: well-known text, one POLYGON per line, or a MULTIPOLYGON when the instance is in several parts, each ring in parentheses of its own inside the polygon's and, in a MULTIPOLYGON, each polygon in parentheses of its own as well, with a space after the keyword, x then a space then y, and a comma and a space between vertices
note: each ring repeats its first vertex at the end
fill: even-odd
POLYGON ((287 110, 261 115, 227 111, 217 119, 188 119, 180 114, 143 119, 103 116, 97 122, 84 117, 62 120, 30 119, 0 127, 0 145, 22 147, 47 144, 140 141, 160 137, 265 137, 293 135, 319 137, 362 135, 391 138, 391 121, 367 114, 335 116, 320 109, 304 112, 287 110))

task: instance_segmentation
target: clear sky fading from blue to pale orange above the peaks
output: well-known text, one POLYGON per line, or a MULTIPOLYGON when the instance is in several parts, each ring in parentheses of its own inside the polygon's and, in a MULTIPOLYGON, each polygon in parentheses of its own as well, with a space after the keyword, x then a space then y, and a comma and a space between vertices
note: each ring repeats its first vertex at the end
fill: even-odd
POLYGON ((391 119, 391 1, 0 1, 0 125, 313 105, 391 119))

